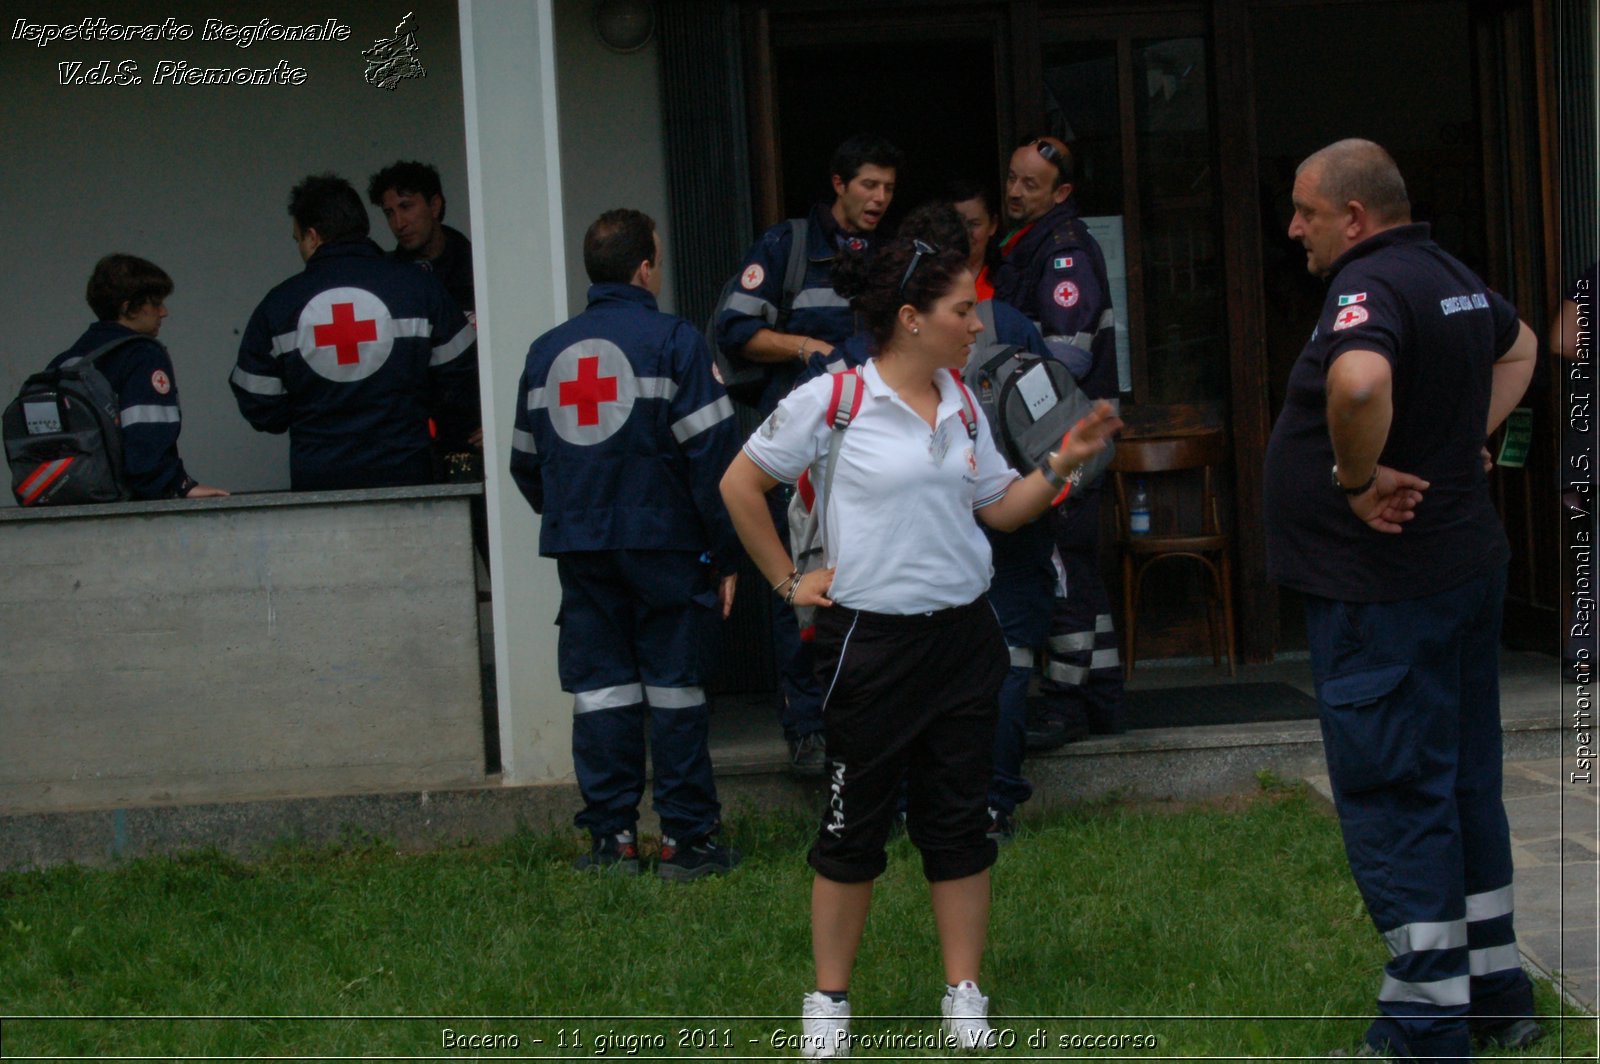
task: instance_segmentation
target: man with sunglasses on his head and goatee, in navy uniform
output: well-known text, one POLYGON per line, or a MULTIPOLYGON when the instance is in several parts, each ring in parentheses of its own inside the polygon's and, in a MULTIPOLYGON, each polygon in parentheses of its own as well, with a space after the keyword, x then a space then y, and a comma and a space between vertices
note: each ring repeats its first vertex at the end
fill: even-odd
MULTIPOLYGON (((1029 136, 1006 170, 995 299, 1032 318, 1090 398, 1117 395, 1117 326, 1106 259, 1072 198, 1072 152, 1053 136, 1029 136)), ((1043 704, 1029 747, 1051 749, 1085 731, 1122 731, 1122 656, 1099 566, 1101 485, 1078 486, 1051 510, 1061 560, 1050 624, 1043 704)))

